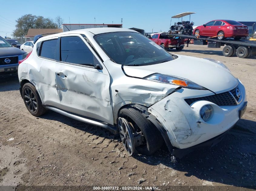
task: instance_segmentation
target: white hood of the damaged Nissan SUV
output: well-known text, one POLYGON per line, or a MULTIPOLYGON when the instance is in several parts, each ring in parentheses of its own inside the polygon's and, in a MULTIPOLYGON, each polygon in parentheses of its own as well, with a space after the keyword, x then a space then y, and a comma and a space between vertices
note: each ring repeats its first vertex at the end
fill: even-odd
POLYGON ((169 62, 145 66, 124 66, 126 75, 144 78, 153 73, 174 75, 191 80, 215 93, 229 91, 238 80, 222 66, 206 59, 178 55, 169 62))

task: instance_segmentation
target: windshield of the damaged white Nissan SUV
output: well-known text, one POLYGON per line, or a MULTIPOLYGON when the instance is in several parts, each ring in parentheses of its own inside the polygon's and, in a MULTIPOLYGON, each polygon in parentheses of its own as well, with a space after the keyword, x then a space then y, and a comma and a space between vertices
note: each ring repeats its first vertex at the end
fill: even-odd
POLYGON ((110 59, 121 65, 152 65, 175 59, 140 33, 104 33, 96 35, 95 40, 110 59))

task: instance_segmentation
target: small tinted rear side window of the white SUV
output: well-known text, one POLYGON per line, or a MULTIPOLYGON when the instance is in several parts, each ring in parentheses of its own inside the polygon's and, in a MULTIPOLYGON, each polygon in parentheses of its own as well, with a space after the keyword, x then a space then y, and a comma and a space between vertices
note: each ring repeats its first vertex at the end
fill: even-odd
POLYGON ((55 52, 58 39, 44 41, 41 47, 40 56, 55 59, 55 52))

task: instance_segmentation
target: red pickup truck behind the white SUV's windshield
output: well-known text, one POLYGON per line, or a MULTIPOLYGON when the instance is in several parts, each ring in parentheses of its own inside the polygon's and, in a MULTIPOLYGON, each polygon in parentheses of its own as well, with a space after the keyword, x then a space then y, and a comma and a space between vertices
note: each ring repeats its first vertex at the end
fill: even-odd
MULTIPOLYGON (((150 37, 149 37, 150 38, 150 37)), ((180 38, 168 37, 165 34, 154 34, 151 38, 152 41, 162 46, 165 50, 176 48, 176 50, 182 50, 184 48, 184 41, 180 38)))

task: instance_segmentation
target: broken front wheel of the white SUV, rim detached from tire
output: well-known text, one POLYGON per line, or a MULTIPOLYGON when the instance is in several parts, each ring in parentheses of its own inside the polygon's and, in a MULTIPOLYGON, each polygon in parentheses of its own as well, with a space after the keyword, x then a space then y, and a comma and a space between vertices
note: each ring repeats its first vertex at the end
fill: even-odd
POLYGON ((145 155, 153 154, 163 144, 158 129, 137 109, 125 107, 118 115, 118 129, 122 143, 129 155, 135 149, 145 155))

